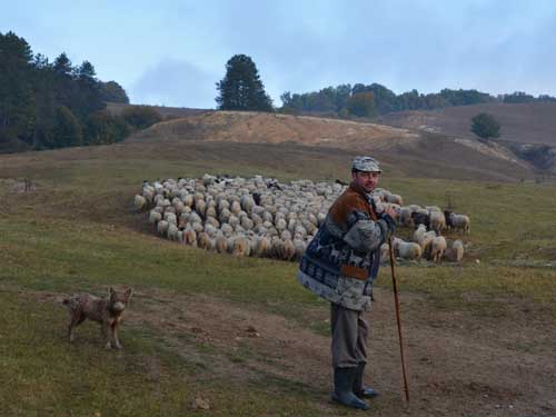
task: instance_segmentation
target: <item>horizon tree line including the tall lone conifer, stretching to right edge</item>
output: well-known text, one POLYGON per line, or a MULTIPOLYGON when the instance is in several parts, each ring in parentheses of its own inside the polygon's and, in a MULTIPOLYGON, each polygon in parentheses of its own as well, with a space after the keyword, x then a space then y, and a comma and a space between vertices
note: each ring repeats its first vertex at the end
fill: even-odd
POLYGON ((315 113, 319 116, 376 117, 393 111, 431 110, 450 106, 469 106, 488 102, 520 103, 534 101, 556 101, 556 98, 540 95, 537 98, 523 91, 494 97, 475 89, 419 93, 411 90, 396 95, 379 83, 354 86, 340 85, 319 91, 280 96, 281 108, 274 108, 265 91, 257 66, 250 57, 236 54, 226 63, 226 76, 217 82, 216 98, 219 110, 280 111, 286 113, 315 113))

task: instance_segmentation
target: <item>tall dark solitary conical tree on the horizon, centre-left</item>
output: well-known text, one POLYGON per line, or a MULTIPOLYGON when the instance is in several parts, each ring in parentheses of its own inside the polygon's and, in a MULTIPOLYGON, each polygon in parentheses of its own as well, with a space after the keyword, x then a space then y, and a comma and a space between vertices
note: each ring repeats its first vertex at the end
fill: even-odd
POLYGON ((272 111, 272 100, 265 92, 257 67, 248 56, 231 57, 226 63, 226 76, 216 86, 220 110, 272 111))

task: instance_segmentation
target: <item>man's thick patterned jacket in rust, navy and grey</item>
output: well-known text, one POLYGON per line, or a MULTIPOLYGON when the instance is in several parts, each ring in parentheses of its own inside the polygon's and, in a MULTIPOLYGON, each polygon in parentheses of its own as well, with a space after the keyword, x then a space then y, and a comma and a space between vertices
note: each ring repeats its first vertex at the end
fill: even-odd
POLYGON ((299 262, 298 280, 330 302, 368 310, 379 269, 380 245, 393 231, 391 224, 377 219, 370 198, 351 183, 332 205, 307 247, 299 262), (349 237, 358 234, 365 236, 365 250, 351 244, 349 237))

